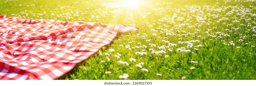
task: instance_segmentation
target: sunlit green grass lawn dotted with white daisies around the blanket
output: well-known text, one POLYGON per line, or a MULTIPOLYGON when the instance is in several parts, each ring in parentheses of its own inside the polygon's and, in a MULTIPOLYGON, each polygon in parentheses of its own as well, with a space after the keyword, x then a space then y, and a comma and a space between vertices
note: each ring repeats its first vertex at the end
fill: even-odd
POLYGON ((111 4, 117 1, 119 0, 0 0, 0 14, 28 19, 125 24, 140 28, 116 37, 110 45, 100 49, 102 55, 99 52, 93 54, 57 80, 123 80, 119 76, 124 73, 129 75, 127 80, 180 80, 181 77, 186 77, 185 80, 256 79, 255 1, 141 0, 139 8, 126 8, 120 4, 113 7, 111 4), (103 4, 110 5, 102 6, 103 4), (239 22, 235 22, 236 20, 239 22), (211 31, 205 33, 208 29, 211 31), (171 32, 174 35, 166 35, 171 32), (221 38, 217 38, 218 36, 221 38), (146 41, 150 39, 151 41, 146 41), (243 41, 240 42, 239 39, 243 41), (193 42, 195 40, 199 42, 193 42), (165 41, 177 46, 171 46, 165 41), (193 47, 188 48, 186 41, 193 42, 193 47), (230 41, 233 41, 234 46, 230 41), (151 46, 152 44, 156 46, 151 46), (126 45, 130 45, 131 49, 127 49, 126 45), (165 46, 159 49, 158 46, 162 45, 165 46), (195 47, 197 45, 202 46, 195 47), (177 49, 181 47, 191 52, 178 52, 177 49), (115 51, 106 56, 109 49, 115 51), (165 52, 154 54, 151 49, 165 52), (147 54, 137 55, 136 52, 147 54), (120 58, 114 56, 117 53, 121 54, 120 58), (136 62, 130 61, 130 58, 136 59, 136 62), (126 61, 129 65, 118 61, 126 61), (141 62, 148 72, 136 67, 141 62), (111 74, 105 74, 107 71, 111 74))

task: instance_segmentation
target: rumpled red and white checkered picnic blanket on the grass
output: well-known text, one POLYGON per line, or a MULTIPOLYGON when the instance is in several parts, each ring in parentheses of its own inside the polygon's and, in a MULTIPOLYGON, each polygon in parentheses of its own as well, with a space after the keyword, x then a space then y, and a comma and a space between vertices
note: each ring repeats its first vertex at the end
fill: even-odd
POLYGON ((54 80, 136 27, 0 15, 0 79, 54 80))

